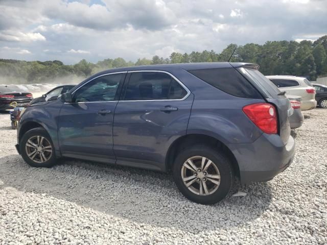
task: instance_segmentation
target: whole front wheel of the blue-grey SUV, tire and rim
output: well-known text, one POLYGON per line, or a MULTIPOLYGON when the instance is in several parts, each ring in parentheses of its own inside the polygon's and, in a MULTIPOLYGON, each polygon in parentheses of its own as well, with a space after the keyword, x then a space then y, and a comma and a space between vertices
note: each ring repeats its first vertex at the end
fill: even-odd
POLYGON ((52 167, 56 164, 52 140, 48 132, 41 127, 31 129, 24 134, 19 142, 19 150, 22 158, 32 167, 52 167), (40 141, 41 144, 38 145, 37 142, 40 141))

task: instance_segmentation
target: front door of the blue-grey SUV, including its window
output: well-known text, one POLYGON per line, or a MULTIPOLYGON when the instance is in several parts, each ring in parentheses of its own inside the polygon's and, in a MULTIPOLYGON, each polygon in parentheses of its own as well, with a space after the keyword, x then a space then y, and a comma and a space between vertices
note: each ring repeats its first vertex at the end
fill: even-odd
POLYGON ((63 156, 114 163, 113 112, 126 72, 91 79, 73 91, 59 115, 58 138, 63 156))

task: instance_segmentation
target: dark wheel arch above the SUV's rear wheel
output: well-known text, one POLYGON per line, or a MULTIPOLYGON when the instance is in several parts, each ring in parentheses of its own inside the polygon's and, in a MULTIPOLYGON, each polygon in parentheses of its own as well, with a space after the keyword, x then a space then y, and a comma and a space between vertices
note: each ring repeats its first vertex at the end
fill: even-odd
POLYGON ((221 140, 206 134, 186 134, 177 138, 169 147, 169 150, 166 155, 166 170, 170 171, 172 169, 174 160, 181 150, 188 148, 188 146, 194 145, 196 143, 206 144, 213 146, 217 150, 222 150, 222 152, 230 159, 234 174, 240 178, 240 168, 239 164, 227 147, 225 143, 221 140))

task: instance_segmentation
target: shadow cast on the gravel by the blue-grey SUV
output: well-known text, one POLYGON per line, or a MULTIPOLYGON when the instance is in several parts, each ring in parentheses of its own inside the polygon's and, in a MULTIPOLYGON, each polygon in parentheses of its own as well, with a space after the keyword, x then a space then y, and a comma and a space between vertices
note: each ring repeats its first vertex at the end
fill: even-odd
POLYGON ((52 168, 33 168, 20 156, 0 158, 0 189, 46 193, 130 222, 175 227, 191 233, 242 226, 262 215, 271 202, 269 183, 236 184, 246 197, 232 197, 204 206, 186 200, 169 174, 131 167, 63 159, 52 168), (205 219, 206 222, 197 222, 205 219))

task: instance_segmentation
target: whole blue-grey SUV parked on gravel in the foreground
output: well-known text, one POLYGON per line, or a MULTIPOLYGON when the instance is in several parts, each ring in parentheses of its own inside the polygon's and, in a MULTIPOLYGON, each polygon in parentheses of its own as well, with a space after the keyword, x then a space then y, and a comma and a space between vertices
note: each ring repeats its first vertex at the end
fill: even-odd
POLYGON ((59 157, 172 171, 179 190, 213 204, 292 162, 290 101, 247 63, 102 71, 22 114, 16 149, 35 167, 59 157))

